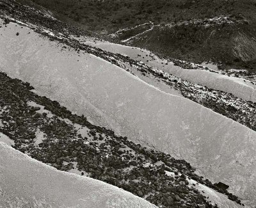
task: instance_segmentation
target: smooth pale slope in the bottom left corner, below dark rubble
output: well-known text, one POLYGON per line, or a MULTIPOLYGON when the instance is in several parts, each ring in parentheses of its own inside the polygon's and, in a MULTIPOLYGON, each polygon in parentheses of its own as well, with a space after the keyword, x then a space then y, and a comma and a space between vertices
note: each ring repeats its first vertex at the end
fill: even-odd
POLYGON ((99 180, 56 170, 0 142, 0 207, 156 207, 99 180))

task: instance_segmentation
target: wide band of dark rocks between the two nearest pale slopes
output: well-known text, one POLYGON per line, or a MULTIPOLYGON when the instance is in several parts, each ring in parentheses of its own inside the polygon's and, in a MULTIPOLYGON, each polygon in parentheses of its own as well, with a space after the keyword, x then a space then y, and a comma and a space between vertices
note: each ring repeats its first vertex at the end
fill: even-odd
POLYGON ((58 170, 108 182, 159 207, 241 207, 237 196, 196 175, 186 161, 92 125, 32 89, 0 73, 0 132, 20 152, 58 170))

